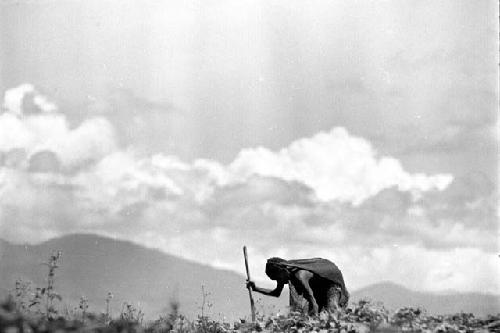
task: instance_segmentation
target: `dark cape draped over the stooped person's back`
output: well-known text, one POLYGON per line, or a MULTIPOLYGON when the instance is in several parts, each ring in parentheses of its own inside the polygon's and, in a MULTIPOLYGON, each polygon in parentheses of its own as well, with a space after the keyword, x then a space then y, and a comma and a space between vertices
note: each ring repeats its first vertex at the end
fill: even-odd
POLYGON ((344 306, 347 304, 349 299, 349 293, 345 287, 344 277, 342 272, 333 262, 323 258, 311 258, 311 259, 293 259, 286 260, 282 263, 288 268, 298 268, 309 271, 316 274, 323 279, 333 282, 335 285, 339 286, 341 289, 342 297, 340 300, 340 305, 344 306))

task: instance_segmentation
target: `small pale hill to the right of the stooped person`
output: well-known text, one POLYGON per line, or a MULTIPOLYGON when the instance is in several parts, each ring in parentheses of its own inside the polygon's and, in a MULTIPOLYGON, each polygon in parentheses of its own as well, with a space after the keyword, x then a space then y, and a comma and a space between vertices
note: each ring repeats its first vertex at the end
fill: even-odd
POLYGON ((449 314, 463 311, 484 316, 500 313, 500 296, 482 293, 434 294, 418 292, 392 282, 373 284, 351 294, 352 300, 362 298, 382 302, 389 309, 421 306, 429 314, 449 314))

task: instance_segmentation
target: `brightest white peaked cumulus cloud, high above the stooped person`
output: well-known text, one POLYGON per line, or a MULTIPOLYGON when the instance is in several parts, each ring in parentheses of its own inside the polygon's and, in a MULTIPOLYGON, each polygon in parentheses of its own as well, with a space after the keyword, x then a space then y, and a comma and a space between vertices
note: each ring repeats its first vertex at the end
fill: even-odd
POLYGON ((313 188, 319 199, 360 204, 384 188, 401 191, 443 190, 449 174, 410 174, 392 157, 378 157, 365 139, 344 128, 320 132, 291 143, 279 152, 266 148, 243 150, 230 169, 239 177, 253 174, 298 181, 313 188))

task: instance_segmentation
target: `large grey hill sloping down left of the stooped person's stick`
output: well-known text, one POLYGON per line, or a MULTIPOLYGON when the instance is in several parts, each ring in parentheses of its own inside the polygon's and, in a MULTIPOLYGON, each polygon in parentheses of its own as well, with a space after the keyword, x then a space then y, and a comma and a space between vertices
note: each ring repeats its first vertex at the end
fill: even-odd
POLYGON ((211 293, 208 301, 214 304, 213 313, 237 318, 248 312, 245 280, 237 273, 180 259, 130 241, 86 234, 64 236, 38 245, 5 246, 7 243, 0 250, 3 290, 12 289, 18 277, 43 285, 46 268, 40 264, 51 251, 62 250, 55 287, 72 304, 78 304, 79 297, 85 295, 91 308, 103 308, 104 299, 111 291, 115 295, 115 312, 119 312, 120 303, 128 301, 138 305, 140 302, 145 313, 156 316, 171 301, 177 300, 181 311, 196 316, 203 301, 201 286, 204 285, 206 292, 211 293), (224 298, 228 287, 232 290, 229 300, 224 298))

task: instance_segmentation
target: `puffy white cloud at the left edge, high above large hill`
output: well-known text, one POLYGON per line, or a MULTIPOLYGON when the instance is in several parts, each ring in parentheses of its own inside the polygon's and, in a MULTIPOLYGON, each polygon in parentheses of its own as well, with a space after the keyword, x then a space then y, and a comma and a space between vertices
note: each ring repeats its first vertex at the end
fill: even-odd
POLYGON ((52 152, 57 163, 71 169, 100 160, 117 148, 113 126, 105 118, 90 118, 71 128, 65 115, 56 112, 56 105, 30 84, 6 91, 3 104, 0 153, 23 150, 32 159, 40 152, 52 152), (39 113, 26 113, 23 108, 30 94, 39 113))

